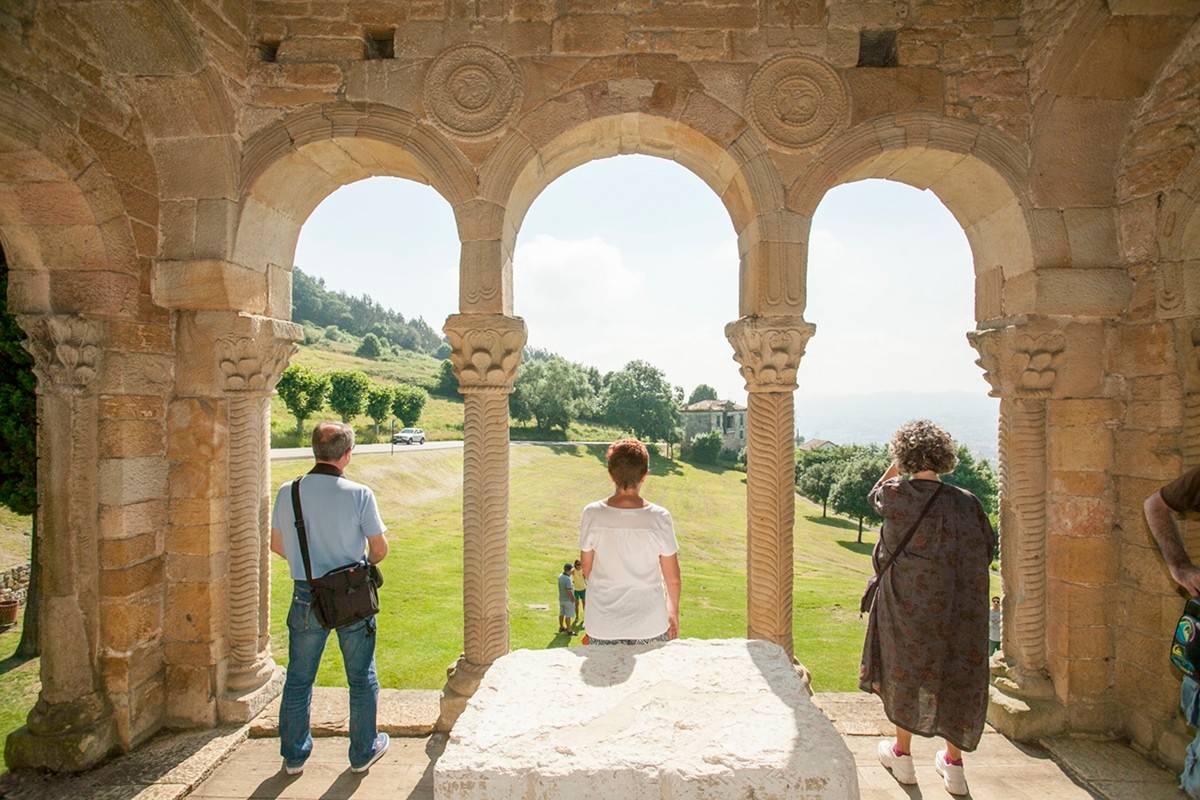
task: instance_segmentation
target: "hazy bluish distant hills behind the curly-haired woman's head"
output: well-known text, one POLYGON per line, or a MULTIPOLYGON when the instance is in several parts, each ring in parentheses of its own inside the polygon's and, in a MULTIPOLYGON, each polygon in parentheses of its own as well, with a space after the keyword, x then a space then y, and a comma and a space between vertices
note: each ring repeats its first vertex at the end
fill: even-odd
POLYGON ((934 420, 976 456, 996 463, 1000 401, 983 392, 876 392, 796 398, 796 427, 806 439, 886 443, 907 420, 934 420))

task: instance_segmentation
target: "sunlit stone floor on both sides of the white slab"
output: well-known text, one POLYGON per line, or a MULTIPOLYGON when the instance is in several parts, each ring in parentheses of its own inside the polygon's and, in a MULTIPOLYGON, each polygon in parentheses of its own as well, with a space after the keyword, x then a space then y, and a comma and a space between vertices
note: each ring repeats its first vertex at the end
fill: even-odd
MULTIPOLYGON (((392 709, 414 711, 428 698, 410 697, 392 709)), ((864 800, 948 798, 932 768, 936 745, 918 739, 916 787, 901 787, 875 760, 875 742, 888 723, 878 702, 865 694, 817 694, 858 760, 864 800)), ((344 696, 322 697, 330 724, 316 740, 304 775, 280 771, 276 739, 246 739, 248 727, 164 734, 136 753, 79 776, 8 774, 0 778, 0 800, 431 800, 433 763, 444 738, 394 739, 389 753, 364 776, 347 768, 344 728, 337 709, 344 696), (337 700, 341 700, 340 703, 337 700), (336 706, 336 708, 335 708, 336 706), (336 722, 336 723, 335 723, 336 722), (214 769, 215 768, 215 769, 214 769)), ((269 721, 270 714, 266 715, 269 721)), ((406 717, 397 727, 424 724, 406 717)), ((270 729, 260 726, 259 735, 270 729)), ((989 729, 978 752, 968 756, 967 778, 974 800, 1183 800, 1175 776, 1128 747, 1112 742, 1062 739, 1046 747, 1015 745, 989 729), (1086 788, 1085 788, 1086 787, 1086 788)))

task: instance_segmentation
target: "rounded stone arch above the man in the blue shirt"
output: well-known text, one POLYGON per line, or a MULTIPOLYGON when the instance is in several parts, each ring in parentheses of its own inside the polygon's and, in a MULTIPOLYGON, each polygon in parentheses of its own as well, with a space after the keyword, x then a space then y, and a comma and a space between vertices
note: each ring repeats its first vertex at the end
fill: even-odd
POLYGON ((230 269, 259 296, 265 289, 271 317, 290 315, 300 227, 346 184, 376 175, 428 184, 454 209, 461 237, 469 228, 462 206, 475 193, 470 164, 440 133, 396 108, 331 103, 298 112, 252 137, 241 166, 230 269))

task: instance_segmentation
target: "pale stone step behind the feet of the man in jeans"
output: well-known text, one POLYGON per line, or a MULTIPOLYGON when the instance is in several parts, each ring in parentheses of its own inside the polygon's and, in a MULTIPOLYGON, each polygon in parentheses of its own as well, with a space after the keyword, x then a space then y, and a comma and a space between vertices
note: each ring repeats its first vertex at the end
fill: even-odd
MULTIPOLYGON (((438 721, 442 692, 432 688, 382 688, 376 724, 392 736, 427 736, 438 721)), ((318 686, 312 690, 312 735, 348 736, 350 732, 350 694, 341 687, 318 686)), ((256 739, 280 735, 280 698, 268 705, 250 723, 256 739)))

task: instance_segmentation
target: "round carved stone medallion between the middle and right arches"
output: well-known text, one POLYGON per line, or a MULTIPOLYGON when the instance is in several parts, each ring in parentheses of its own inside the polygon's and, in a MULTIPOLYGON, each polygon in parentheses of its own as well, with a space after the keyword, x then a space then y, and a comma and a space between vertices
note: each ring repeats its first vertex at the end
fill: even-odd
POLYGON ((838 73, 805 55, 776 56, 750 79, 746 114, 758 133, 785 150, 822 144, 845 126, 848 110, 838 73))

